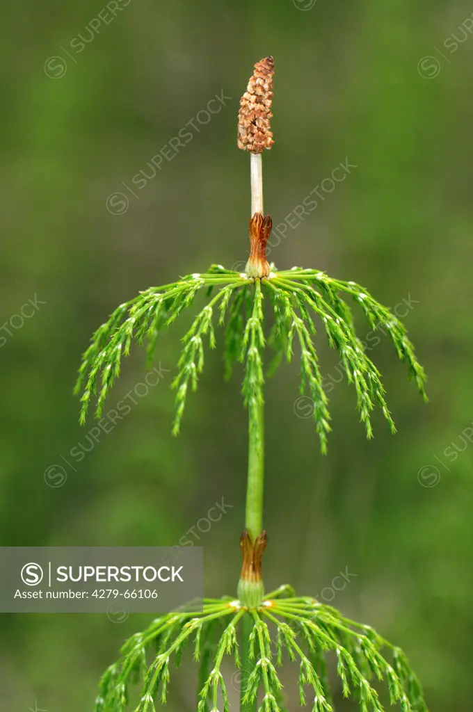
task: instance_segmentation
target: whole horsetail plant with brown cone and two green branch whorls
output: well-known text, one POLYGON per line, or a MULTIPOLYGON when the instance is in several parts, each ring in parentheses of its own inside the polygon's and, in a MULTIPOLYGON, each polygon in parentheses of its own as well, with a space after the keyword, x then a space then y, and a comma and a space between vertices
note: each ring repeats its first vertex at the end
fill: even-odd
POLYGON ((129 708, 129 688, 136 678, 141 681, 142 692, 135 712, 155 712, 156 706, 167 699, 171 661, 179 664, 182 650, 191 639, 194 660, 199 663, 197 712, 217 712, 220 700, 224 712, 229 712, 222 662, 230 654, 235 666, 241 667, 242 712, 287 710, 278 673, 284 657, 298 662, 301 704, 308 701, 313 712, 331 712, 326 667, 329 652, 336 659, 343 696, 353 696, 361 712, 383 712, 375 689, 382 679, 388 683, 391 704, 402 712, 427 712, 422 688, 405 654, 372 628, 345 618, 315 598, 297 597, 287 585, 264 595, 261 562, 266 546, 262 523, 266 344, 274 352, 270 374, 283 360, 291 361, 297 344, 301 393, 307 390, 313 400, 313 419, 323 453, 327 450, 330 415, 315 345, 316 329, 320 327, 331 347, 341 355, 368 438, 373 434, 370 414, 375 406, 380 407, 391 431, 395 431, 380 373, 363 350, 345 299, 360 305, 371 328, 390 335, 398 357, 407 363, 410 377, 426 398, 425 375, 404 326, 368 290, 315 269, 293 267, 278 271, 266 261, 271 217, 265 216, 263 209, 261 154, 273 145, 269 122, 273 74, 272 57, 256 63, 240 101, 238 146, 249 152, 251 162, 250 256, 245 271, 212 265, 205 273, 148 288, 113 312, 95 332, 83 355, 76 384, 76 392, 83 392, 82 423, 93 397, 97 401, 95 415, 100 418, 105 399, 120 373, 122 356, 129 354, 132 341, 140 345, 146 342, 152 360, 160 332, 204 291, 207 305, 182 339, 182 355, 172 384, 176 390, 173 433, 180 430, 189 389, 197 389, 204 367, 204 342, 211 349, 216 347, 217 313, 218 325, 224 329, 226 375, 232 375, 237 363, 243 365, 242 394, 249 412, 246 528, 241 536, 243 567, 237 597, 204 599, 202 612, 165 614, 145 631, 133 635, 121 649, 120 659, 100 681, 95 712, 125 712, 129 708), (267 310, 274 313, 269 335, 264 325, 267 310), (156 652, 150 661, 152 648, 156 652))

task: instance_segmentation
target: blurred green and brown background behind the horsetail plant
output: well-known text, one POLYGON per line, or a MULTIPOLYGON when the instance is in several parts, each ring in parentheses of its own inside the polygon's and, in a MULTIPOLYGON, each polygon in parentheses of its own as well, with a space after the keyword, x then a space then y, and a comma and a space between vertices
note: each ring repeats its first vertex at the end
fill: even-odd
MULTIPOLYGON (((1 13, 2 545, 173 545, 224 498, 227 513, 209 531, 196 527, 194 540, 207 594, 234 592, 246 476, 241 372, 224 384, 219 352, 210 355, 174 439, 170 382, 184 323, 175 324, 157 350, 170 372, 93 449, 93 421, 78 426, 72 387, 90 333, 115 305, 211 262, 246 260, 238 102, 253 63, 272 54, 276 145, 264 171, 274 224, 340 162, 356 167, 321 191, 271 259, 401 304, 430 403, 383 338, 372 357, 398 434, 375 416, 366 441, 353 389, 340 382, 323 457, 306 409, 294 405, 296 363, 268 382, 266 585, 291 582, 373 624, 407 651, 432 712, 469 712, 471 4, 118 0, 111 10, 100 0, 24 0, 1 13), (232 99, 197 122, 222 90, 232 99), (150 175, 147 162, 191 120, 192 140, 137 190, 132 177, 150 175), (116 192, 126 200, 107 204, 116 192), (33 317, 22 319, 29 300, 33 317), (73 447, 85 453, 80 462, 73 447), (337 580, 336 591, 341 572, 349 582, 337 580)), ((369 333, 362 320, 359 328, 369 333)), ((328 381, 338 380, 336 355, 323 339, 319 348, 328 381)), ((144 375, 135 350, 110 407, 144 375)), ((0 709, 90 710, 101 672, 149 619, 3 614, 0 709)), ((291 672, 286 679, 296 708, 291 672)), ((175 683, 170 710, 192 711, 188 666, 175 683)), ((338 710, 353 708, 339 689, 336 698, 338 710)))

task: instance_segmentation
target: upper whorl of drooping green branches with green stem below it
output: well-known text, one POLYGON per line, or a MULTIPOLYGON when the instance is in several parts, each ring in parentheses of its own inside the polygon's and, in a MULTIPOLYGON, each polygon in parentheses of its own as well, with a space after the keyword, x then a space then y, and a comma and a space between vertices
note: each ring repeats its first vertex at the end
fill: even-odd
POLYGON ((219 305, 219 325, 225 325, 228 315, 224 343, 226 376, 232 375, 235 362, 244 364, 242 393, 244 404, 249 409, 246 526, 255 538, 262 528, 265 293, 270 297, 274 312, 274 326, 268 339, 269 346, 274 350, 269 375, 284 359, 291 361, 296 338, 301 359, 300 392, 308 391, 311 396, 313 419, 323 453, 327 450, 331 427, 328 398, 316 348, 317 321, 322 325, 331 347, 340 353, 347 380, 355 387, 356 405, 368 438, 373 436, 370 414, 376 405, 382 410, 391 431, 395 431, 380 373, 355 333, 350 307, 341 294, 348 295, 360 305, 371 328, 378 328, 389 335, 397 356, 407 363, 410 377, 426 399, 425 374, 400 320, 360 285, 333 279, 316 270, 300 268, 276 271, 268 279, 251 281, 240 273, 212 266, 207 273, 190 275, 162 288, 145 290, 121 304, 98 328, 83 355, 76 384, 76 392, 83 390, 80 422, 85 422, 93 397, 97 397, 95 415, 101 417, 105 399, 120 374, 122 356, 129 354, 132 341, 139 345, 147 342, 148 357, 152 359, 157 337, 177 320, 184 309, 192 306, 202 288, 207 288, 207 293, 217 288, 217 294, 197 314, 182 340, 184 347, 172 383, 177 391, 173 433, 177 434, 180 430, 189 387, 197 389, 198 376, 204 367, 204 337, 208 337, 210 348, 216 345, 213 317, 214 308, 219 305))

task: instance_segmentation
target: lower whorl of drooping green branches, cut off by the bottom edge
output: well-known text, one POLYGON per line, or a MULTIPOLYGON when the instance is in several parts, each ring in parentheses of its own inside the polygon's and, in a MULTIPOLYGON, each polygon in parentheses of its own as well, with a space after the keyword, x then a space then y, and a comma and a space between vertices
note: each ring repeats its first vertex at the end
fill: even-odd
POLYGON ((264 692, 261 712, 286 712, 278 669, 284 654, 299 670, 299 697, 306 703, 311 691, 313 712, 333 712, 326 676, 326 654, 336 656, 337 675, 343 695, 358 701, 361 712, 383 712, 373 681, 387 681, 390 703, 401 712, 427 712, 415 673, 399 648, 390 645, 369 626, 350 621, 331 606, 310 597, 266 598, 258 609, 246 612, 238 601, 206 600, 200 613, 170 613, 160 617, 124 645, 120 659, 102 680, 95 712, 125 712, 135 678, 142 689, 135 712, 155 712, 155 701, 167 701, 172 661, 180 663, 184 646, 194 637, 194 659, 201 660, 198 712, 217 712, 222 693, 224 712, 229 712, 227 686, 222 674, 224 656, 234 656, 239 669, 237 643, 249 666, 241 669, 241 710, 254 712, 258 691, 264 692), (208 601, 208 602, 207 602, 208 601), (266 622, 267 621, 267 622, 266 622), (214 638, 214 624, 224 623, 214 638), (269 627, 271 624, 271 627, 269 627), (151 664, 147 653, 155 649, 151 664), (383 650, 387 649, 388 656, 383 650), (276 652, 276 654, 275 654, 276 652))

